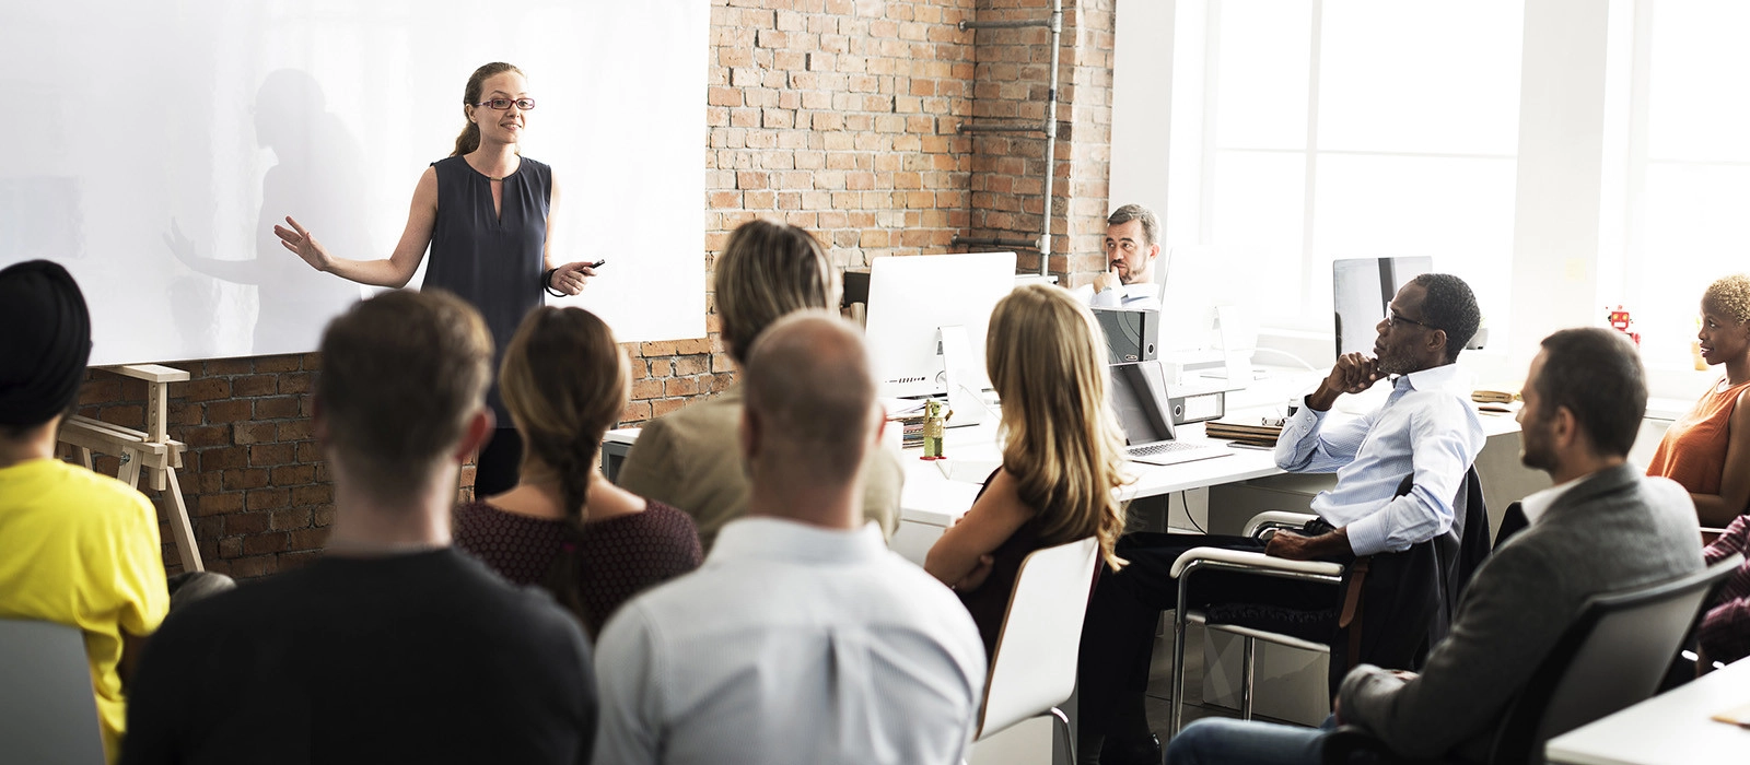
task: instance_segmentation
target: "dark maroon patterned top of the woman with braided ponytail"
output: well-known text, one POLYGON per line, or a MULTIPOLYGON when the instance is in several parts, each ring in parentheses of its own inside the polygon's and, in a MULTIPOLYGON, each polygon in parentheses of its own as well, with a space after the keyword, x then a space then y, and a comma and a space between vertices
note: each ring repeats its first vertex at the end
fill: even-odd
MULTIPOLYGON (((485 501, 455 508, 455 547, 520 585, 546 583, 565 545, 564 520, 499 510, 485 501)), ((698 568, 704 554, 693 519, 660 501, 644 512, 584 524, 579 592, 593 639, 620 606, 648 587, 698 568)))

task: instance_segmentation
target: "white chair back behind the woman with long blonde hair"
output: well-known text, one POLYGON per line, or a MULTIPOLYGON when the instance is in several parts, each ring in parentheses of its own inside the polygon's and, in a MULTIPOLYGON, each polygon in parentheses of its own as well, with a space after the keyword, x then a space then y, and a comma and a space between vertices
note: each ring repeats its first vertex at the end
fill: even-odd
POLYGON ((1082 620, 1097 564, 1099 541, 1092 536, 1034 550, 1020 562, 990 657, 976 739, 1045 714, 1074 692, 1082 620))

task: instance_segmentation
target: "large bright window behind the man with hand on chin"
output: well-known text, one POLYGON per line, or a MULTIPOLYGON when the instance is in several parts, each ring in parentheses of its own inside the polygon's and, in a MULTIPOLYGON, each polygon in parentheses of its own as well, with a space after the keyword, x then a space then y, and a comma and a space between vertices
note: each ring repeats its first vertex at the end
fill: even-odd
POLYGON ((1381 255, 1433 257, 1505 325, 1522 2, 1176 9, 1169 245, 1270 327, 1328 332, 1330 262, 1381 255))

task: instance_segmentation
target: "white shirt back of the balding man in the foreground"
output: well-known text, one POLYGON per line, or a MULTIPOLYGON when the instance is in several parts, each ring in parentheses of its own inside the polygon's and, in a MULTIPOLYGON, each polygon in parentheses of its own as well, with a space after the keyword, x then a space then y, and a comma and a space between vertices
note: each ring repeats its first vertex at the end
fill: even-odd
POLYGON ((598 763, 940 763, 984 697, 978 627, 875 524, 733 520, 595 646, 598 763))

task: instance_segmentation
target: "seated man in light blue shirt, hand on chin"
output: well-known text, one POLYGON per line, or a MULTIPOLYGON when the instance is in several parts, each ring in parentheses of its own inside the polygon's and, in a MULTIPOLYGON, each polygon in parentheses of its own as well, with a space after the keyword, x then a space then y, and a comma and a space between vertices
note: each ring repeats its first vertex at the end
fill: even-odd
MULTIPOLYGON (((1477 332, 1477 299, 1463 279, 1423 274, 1398 290, 1379 321, 1374 356, 1349 353, 1288 417, 1276 465, 1297 473, 1337 473, 1337 487, 1312 498, 1318 533, 1281 531, 1262 545, 1250 538, 1136 533, 1118 541, 1130 564, 1101 576, 1082 639, 1082 751, 1092 758, 1108 734, 1104 763, 1158 760, 1143 693, 1162 610, 1178 601, 1172 562, 1192 547, 1228 547, 1307 561, 1348 561, 1402 552, 1452 526, 1452 500, 1482 451, 1482 423, 1470 403, 1470 376, 1456 365, 1477 332), (1344 393, 1362 393, 1395 376, 1374 412, 1326 426, 1344 393), (1414 489, 1395 496, 1405 475, 1414 489), (1104 706, 1110 713, 1102 713, 1104 706)), ((1309 529, 1312 531, 1312 529, 1309 529)), ((1376 561, 1377 564, 1379 561, 1376 561)), ((1194 582, 1199 604, 1264 603, 1335 611, 1328 585, 1267 576, 1208 573, 1194 582)), ((1335 617, 1332 617, 1332 629, 1335 617)), ((1410 646, 1412 653, 1414 646, 1410 646)), ((1337 657, 1334 655, 1334 660, 1337 657)), ((1404 665, 1410 657, 1400 658, 1404 665)), ((1340 667, 1340 665, 1339 665, 1340 667)), ((1340 669, 1339 669, 1340 671, 1340 669)))

